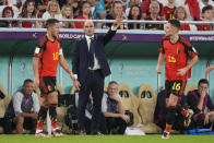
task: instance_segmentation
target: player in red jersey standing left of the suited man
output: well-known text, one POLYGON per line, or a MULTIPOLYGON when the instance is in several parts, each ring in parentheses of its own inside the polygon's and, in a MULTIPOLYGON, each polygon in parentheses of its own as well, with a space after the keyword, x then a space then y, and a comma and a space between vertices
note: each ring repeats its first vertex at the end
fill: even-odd
POLYGON ((70 74, 73 80, 73 84, 78 81, 70 70, 63 53, 59 39, 57 38, 60 31, 60 23, 56 19, 49 19, 46 23, 47 34, 43 37, 36 46, 33 69, 34 69, 34 84, 37 88, 39 86, 41 93, 41 106, 38 112, 36 136, 47 136, 47 132, 44 131, 44 121, 47 117, 47 110, 49 109, 52 134, 55 136, 61 136, 62 133, 58 129, 57 124, 57 111, 58 94, 56 92, 56 74, 58 62, 70 74))

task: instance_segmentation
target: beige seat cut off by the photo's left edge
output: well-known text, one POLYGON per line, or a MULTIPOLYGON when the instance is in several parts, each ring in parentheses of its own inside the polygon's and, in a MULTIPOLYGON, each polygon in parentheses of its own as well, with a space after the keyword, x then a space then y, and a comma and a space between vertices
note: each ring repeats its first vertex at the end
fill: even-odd
MULTIPOLYGON (((5 93, 3 86, 0 84, 0 91, 3 93, 4 98, 0 99, 0 118, 4 117, 5 110, 11 102, 11 97, 5 93)), ((3 133, 3 128, 0 127, 0 133, 3 133)))

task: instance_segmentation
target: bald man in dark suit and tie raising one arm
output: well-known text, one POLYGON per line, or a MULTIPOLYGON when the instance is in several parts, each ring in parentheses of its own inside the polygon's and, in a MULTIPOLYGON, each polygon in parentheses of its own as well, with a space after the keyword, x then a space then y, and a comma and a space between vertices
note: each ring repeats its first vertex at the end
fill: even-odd
POLYGON ((91 133, 98 134, 102 117, 102 98, 104 94, 104 79, 110 74, 110 68, 105 53, 105 45, 116 34, 121 17, 117 17, 111 29, 103 36, 94 35, 94 23, 87 21, 84 23, 85 37, 76 40, 73 47, 72 70, 79 82, 74 86, 80 90, 78 123, 80 134, 85 134, 85 108, 90 93, 93 96, 93 114, 91 133))

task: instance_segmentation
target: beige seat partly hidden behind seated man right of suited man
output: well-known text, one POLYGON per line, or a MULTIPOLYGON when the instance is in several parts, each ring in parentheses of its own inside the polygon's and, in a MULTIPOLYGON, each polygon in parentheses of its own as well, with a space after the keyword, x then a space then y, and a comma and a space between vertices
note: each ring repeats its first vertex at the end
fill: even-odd
POLYGON ((133 126, 136 126, 141 122, 141 118, 138 112, 139 99, 132 93, 131 88, 127 84, 119 84, 119 94, 122 98, 122 105, 124 110, 130 110, 133 114, 133 126))

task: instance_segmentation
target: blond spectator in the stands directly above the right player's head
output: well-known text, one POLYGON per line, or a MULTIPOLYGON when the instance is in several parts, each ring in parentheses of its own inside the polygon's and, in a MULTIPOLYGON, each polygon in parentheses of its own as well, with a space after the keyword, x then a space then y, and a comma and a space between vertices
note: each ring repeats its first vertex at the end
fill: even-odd
MULTIPOLYGON (((175 19, 179 21, 185 21, 187 19, 187 12, 183 7, 178 7, 174 13, 175 19)), ((181 24, 180 31, 191 31, 189 24, 181 24)))

